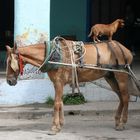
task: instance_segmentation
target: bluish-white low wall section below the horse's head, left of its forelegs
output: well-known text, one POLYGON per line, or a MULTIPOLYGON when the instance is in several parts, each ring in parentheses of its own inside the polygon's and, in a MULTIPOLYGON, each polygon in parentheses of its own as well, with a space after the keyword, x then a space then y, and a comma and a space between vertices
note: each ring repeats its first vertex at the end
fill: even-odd
POLYGON ((54 88, 48 79, 20 80, 16 86, 0 79, 0 105, 44 103, 48 96, 54 97, 54 88))

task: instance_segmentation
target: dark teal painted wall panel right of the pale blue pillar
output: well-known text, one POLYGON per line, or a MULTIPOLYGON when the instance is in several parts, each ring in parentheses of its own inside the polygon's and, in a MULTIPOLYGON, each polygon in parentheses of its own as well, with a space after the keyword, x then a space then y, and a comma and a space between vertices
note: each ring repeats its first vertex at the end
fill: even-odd
POLYGON ((58 35, 86 39, 87 0, 51 0, 51 39, 58 35))

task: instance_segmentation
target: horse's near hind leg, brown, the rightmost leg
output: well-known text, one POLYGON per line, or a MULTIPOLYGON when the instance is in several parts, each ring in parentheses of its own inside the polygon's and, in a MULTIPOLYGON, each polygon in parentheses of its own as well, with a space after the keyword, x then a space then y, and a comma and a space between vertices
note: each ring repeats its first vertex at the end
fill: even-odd
POLYGON ((128 75, 127 74, 116 74, 119 90, 121 94, 121 118, 120 123, 116 126, 116 130, 123 130, 128 118, 128 105, 129 105, 129 94, 128 94, 128 75))

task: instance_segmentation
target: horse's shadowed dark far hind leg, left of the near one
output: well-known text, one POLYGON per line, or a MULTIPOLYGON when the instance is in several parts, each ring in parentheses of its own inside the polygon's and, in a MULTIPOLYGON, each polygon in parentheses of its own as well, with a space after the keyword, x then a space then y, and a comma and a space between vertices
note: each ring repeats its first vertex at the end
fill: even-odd
POLYGON ((109 83, 109 85, 111 86, 112 90, 118 95, 119 97, 119 106, 117 108, 116 114, 115 114, 115 128, 117 128, 120 124, 120 120, 121 120, 121 113, 123 110, 123 102, 122 102, 122 98, 121 98, 121 94, 119 91, 119 85, 118 82, 114 76, 113 72, 108 73, 105 76, 105 80, 109 83))

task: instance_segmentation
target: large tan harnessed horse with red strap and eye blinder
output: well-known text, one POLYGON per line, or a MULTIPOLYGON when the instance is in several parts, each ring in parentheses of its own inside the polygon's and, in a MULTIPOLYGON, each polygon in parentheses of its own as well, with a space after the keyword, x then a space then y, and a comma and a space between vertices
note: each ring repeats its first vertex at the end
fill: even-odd
POLYGON ((78 54, 72 52, 73 44, 75 44, 74 41, 57 37, 51 42, 33 44, 26 47, 17 47, 14 45, 11 48, 10 46, 6 46, 7 83, 11 86, 16 85, 17 78, 20 73, 23 73, 23 68, 26 64, 37 66, 42 72, 48 73, 55 89, 54 116, 51 130, 56 134, 64 124, 63 88, 66 84, 72 83, 73 67, 76 67, 78 82, 88 82, 104 77, 119 98, 119 106, 115 115, 115 128, 116 130, 123 130, 128 117, 129 76, 127 72, 117 71, 117 68, 121 67, 125 69, 126 64, 130 65, 132 63, 133 56, 131 52, 121 43, 114 40, 97 44, 84 43, 82 47, 85 51, 83 56, 81 56, 83 66, 79 67, 78 54), (57 55, 53 56, 56 52, 57 55), (58 62, 72 65, 66 66, 59 65, 58 63, 49 63, 49 61, 56 62, 56 58, 59 60, 58 62), (85 67, 87 65, 93 65, 95 67, 85 67), (104 70, 104 68, 110 67, 116 68, 116 71, 113 71, 112 68, 110 70, 104 70))

